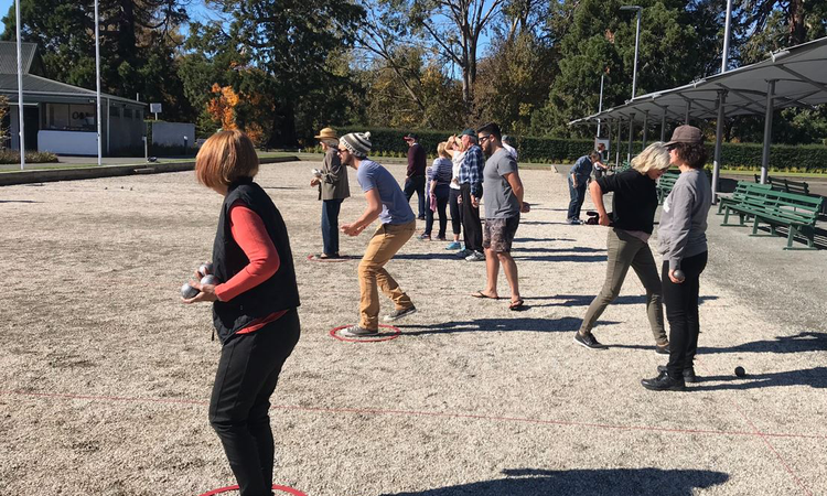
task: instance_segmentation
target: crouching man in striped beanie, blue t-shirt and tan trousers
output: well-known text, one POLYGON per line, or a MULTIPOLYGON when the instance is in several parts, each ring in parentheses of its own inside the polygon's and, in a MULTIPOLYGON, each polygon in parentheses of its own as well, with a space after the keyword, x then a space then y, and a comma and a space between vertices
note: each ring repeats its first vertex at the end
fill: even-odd
POLYGON ((369 151, 369 132, 352 132, 339 140, 342 164, 356 170, 356 180, 367 200, 367 208, 362 216, 343 225, 342 231, 348 236, 358 236, 377 218, 380 223, 367 244, 358 268, 359 323, 342 330, 343 336, 373 336, 379 333, 377 284, 396 305, 396 310, 386 315, 385 321, 395 321, 417 311, 410 298, 385 270, 385 265, 414 236, 417 220, 405 193, 390 172, 367 159, 369 151))

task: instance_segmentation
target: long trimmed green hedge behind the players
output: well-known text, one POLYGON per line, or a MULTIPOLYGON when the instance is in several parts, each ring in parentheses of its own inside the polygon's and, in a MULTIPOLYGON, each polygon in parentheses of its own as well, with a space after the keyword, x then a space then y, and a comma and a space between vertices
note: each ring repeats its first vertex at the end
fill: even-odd
MULTIPOLYGON (((370 142, 377 157, 406 157, 408 144, 402 137, 408 132, 389 128, 336 128, 340 136, 347 132, 370 131, 370 142)), ((437 144, 449 136, 459 131, 414 130, 419 136, 419 142, 433 157, 437 144)), ((536 163, 572 163, 578 158, 591 151, 591 140, 568 140, 558 138, 513 137, 520 162, 536 163)), ((616 147, 612 142, 612 148, 616 147)), ((626 158, 627 142, 620 145, 621 160, 626 158)), ((715 157, 713 143, 707 143, 709 163, 715 157)), ((638 153, 642 149, 640 141, 633 142, 632 150, 638 153)), ((616 150, 616 149, 615 149, 616 150)), ((721 163, 726 169, 741 171, 761 170, 763 145, 760 143, 723 143, 721 147, 721 163)), ((610 154, 610 162, 614 162, 614 152, 610 154)), ((773 144, 770 149, 770 166, 778 172, 810 172, 827 173, 827 147, 820 144, 773 144)))

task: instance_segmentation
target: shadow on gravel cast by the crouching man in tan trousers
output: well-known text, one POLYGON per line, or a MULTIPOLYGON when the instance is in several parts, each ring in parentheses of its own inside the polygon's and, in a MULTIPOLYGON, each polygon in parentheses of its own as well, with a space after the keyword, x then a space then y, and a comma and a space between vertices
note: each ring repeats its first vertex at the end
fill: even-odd
MULTIPOLYGON (((507 309, 507 302, 503 310, 507 309)), ((442 324, 428 325, 397 325, 402 330, 404 336, 419 336, 423 334, 448 334, 448 333, 479 333, 490 331, 530 331, 540 333, 561 333, 577 331, 580 328, 581 319, 474 319, 470 321, 452 321, 442 324), (420 328, 422 331, 410 331, 420 328)), ((619 322, 598 321, 597 325, 619 324, 619 322)))

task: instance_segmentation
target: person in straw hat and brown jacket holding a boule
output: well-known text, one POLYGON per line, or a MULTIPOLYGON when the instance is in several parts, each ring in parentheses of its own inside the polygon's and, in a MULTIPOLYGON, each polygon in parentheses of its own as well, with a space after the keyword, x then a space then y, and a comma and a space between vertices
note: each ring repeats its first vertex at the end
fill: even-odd
POLYGON ((319 258, 339 258, 339 211, 344 198, 351 196, 347 169, 339 160, 339 136, 333 128, 324 128, 315 136, 324 151, 322 169, 313 170, 311 186, 319 187, 322 201, 322 242, 319 258))

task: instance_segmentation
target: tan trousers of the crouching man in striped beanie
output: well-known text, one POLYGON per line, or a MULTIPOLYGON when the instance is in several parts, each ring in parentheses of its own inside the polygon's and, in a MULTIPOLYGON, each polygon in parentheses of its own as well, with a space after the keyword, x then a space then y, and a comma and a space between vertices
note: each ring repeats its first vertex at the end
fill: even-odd
POLYGON ((394 301, 397 310, 408 309, 414 305, 410 298, 399 288, 399 284, 390 277, 385 265, 394 258, 397 251, 408 242, 417 229, 417 222, 408 224, 383 224, 376 229, 370 242, 367 244, 365 256, 359 262, 359 326, 369 330, 379 328, 379 293, 382 292, 394 301))

